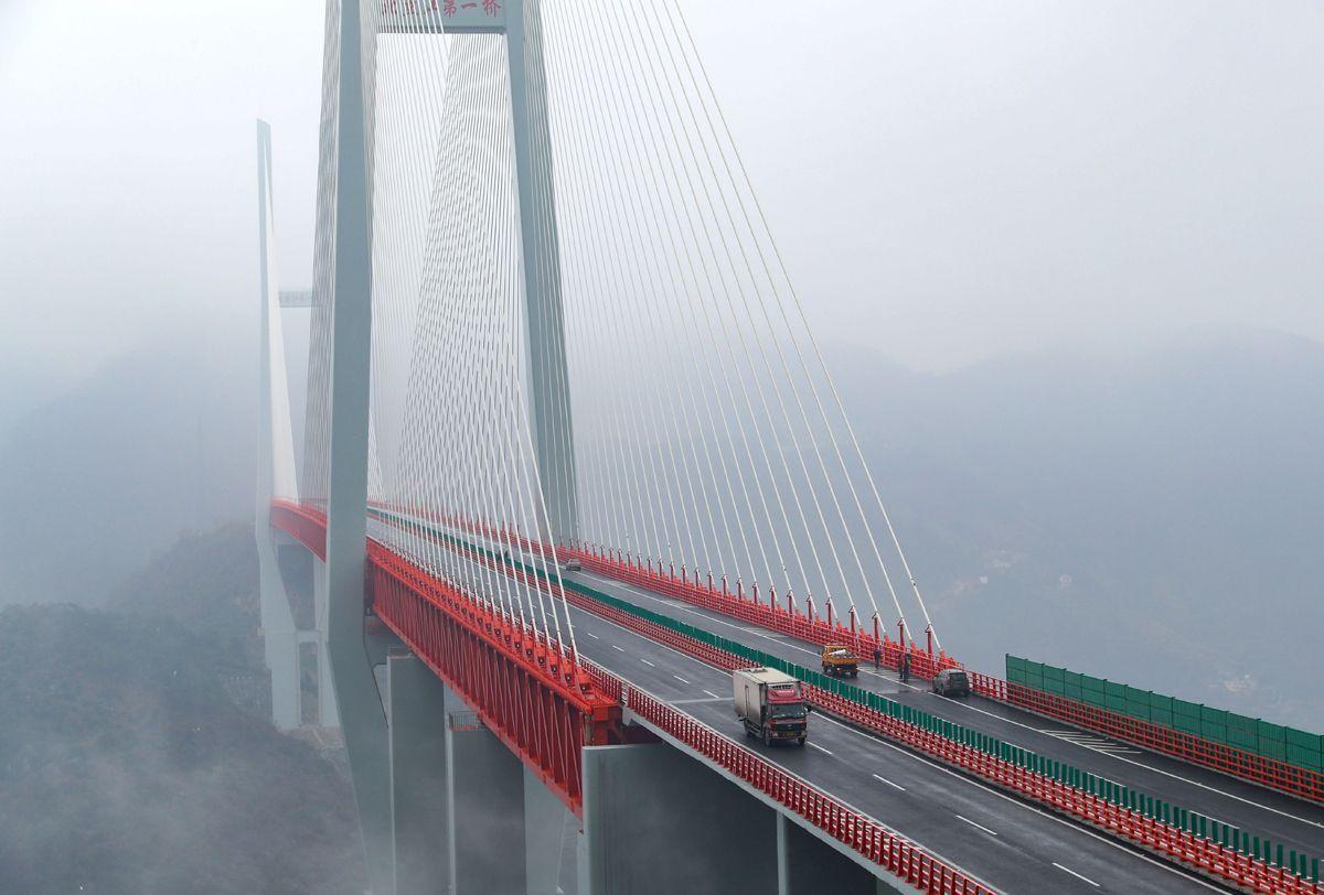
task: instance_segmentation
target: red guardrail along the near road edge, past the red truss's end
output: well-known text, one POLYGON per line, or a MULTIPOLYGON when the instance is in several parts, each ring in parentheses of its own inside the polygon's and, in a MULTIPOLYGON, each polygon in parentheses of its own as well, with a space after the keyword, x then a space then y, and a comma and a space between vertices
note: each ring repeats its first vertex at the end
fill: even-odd
POLYGON ((951 895, 993 895, 996 891, 637 687, 626 685, 625 706, 919 890, 951 895))

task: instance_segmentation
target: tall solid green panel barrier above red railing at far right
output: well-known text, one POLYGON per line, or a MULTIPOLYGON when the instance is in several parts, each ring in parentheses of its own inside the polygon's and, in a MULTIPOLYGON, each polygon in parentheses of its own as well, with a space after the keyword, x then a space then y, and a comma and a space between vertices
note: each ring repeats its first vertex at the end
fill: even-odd
POLYGON ((1031 662, 1010 653, 1006 657, 1006 680, 1010 683, 1148 720, 1160 727, 1201 736, 1267 759, 1287 761, 1307 771, 1324 772, 1324 736, 1319 734, 1271 724, 1259 718, 1247 718, 1234 711, 1186 702, 1153 690, 1140 690, 1064 668, 1031 662))

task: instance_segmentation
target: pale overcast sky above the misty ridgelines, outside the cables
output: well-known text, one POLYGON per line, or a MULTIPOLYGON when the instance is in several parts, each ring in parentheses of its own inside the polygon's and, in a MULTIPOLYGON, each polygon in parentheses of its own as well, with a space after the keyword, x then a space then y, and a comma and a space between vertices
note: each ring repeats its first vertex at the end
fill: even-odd
MULTIPOLYGON (((925 370, 1324 340, 1317 0, 681 1, 824 337, 925 370)), ((0 0, 0 375, 252 332, 260 115, 308 282, 322 20, 0 0)))

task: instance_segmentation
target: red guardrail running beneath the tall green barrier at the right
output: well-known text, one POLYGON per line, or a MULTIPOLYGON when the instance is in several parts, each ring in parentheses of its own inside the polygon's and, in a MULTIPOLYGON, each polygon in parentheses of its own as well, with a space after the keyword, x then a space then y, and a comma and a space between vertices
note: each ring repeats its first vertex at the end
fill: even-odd
POLYGON ((1184 761, 1213 768, 1270 789, 1324 804, 1324 773, 1317 771, 1247 752, 1235 746, 1215 743, 1204 736, 1123 715, 1108 709, 1067 699, 1054 693, 1000 681, 988 674, 972 674, 972 680, 976 693, 1033 711, 1037 715, 1064 720, 1068 724, 1135 743, 1155 752, 1172 755, 1184 761))

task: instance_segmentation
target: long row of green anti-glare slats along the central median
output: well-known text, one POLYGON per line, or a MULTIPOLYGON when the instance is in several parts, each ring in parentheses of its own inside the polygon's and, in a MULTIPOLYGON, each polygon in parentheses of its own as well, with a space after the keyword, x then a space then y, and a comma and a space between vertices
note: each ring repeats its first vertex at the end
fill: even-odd
MULTIPOLYGON (((540 578, 544 580, 547 578, 547 572, 542 568, 520 562, 519 559, 508 558, 502 551, 491 550, 478 543, 466 541, 463 538, 458 538, 450 534, 449 531, 445 531, 436 526, 420 525, 420 522, 416 520, 406 520, 379 509, 369 509, 369 514, 377 516, 380 518, 387 518, 395 522, 396 525, 402 525, 414 530, 424 529, 440 541, 454 545, 462 550, 467 550, 475 554, 482 554, 487 559, 506 564, 510 568, 519 570, 528 576, 540 578)), ((1119 808, 1129 808, 1132 810, 1141 812, 1145 817, 1164 821, 1166 824, 1170 824, 1190 833, 1192 836, 1198 836, 1201 838, 1217 842, 1219 845, 1227 845, 1229 847, 1235 847, 1243 854, 1251 857, 1259 857, 1268 863, 1274 863, 1274 855, 1271 853, 1268 839, 1251 837, 1235 826, 1218 824, 1205 817, 1204 814, 1198 814, 1185 808, 1176 806, 1170 802, 1165 802, 1160 798, 1147 796, 1129 787, 1123 787, 1117 783, 1107 780, 1106 777, 1090 773, 1088 771, 1080 771, 1079 768, 1075 768, 1070 764, 1063 764, 1062 761, 1047 759, 1042 755, 1038 755, 1037 752, 1031 752, 1018 746, 1013 746, 996 736, 990 736, 981 731, 964 727, 963 724, 947 720, 945 718, 931 715, 923 709, 914 709, 894 699, 888 699, 887 697, 883 697, 878 693, 871 693, 870 690, 861 689, 854 683, 846 683, 841 678, 821 674, 812 669, 796 665, 794 662, 788 662, 784 658, 779 658, 776 656, 765 653, 760 649, 747 646, 735 640, 727 640, 726 637, 719 637, 718 635, 704 631, 703 628, 696 628, 691 624, 686 624, 685 621, 678 621, 670 616, 662 615, 661 612, 646 609, 641 605, 630 603, 629 600, 622 600, 617 596, 612 596, 610 594, 604 594, 602 591, 598 591, 587 584, 564 579, 560 583, 565 590, 581 594, 583 596, 587 596, 602 605, 612 607, 613 609, 661 625, 663 628, 674 631, 675 633, 696 640, 702 644, 707 644, 710 646, 715 646, 716 649, 724 650, 733 656, 745 658, 749 661, 751 666, 761 665, 765 668, 775 668, 779 672, 782 672, 785 674, 789 674, 794 678, 804 681, 805 683, 816 686, 821 690, 828 690, 829 693, 834 693, 839 697, 850 699, 851 702, 857 702, 862 706, 867 706, 874 711, 879 711, 891 718, 896 718, 904 723, 914 724, 928 732, 939 734, 940 736, 944 736, 949 740, 978 750, 980 752, 984 752, 986 755, 1000 758, 1005 761, 1010 761, 1017 767, 1025 768, 1034 773, 1041 773, 1043 776, 1051 777, 1053 780, 1057 780, 1062 784, 1083 789, 1084 792, 1104 798, 1108 802, 1117 805, 1119 808)), ((1016 678, 1012 678, 1010 676, 1010 660, 1012 657, 1009 656, 1008 680, 1016 681, 1016 678)), ((1017 660, 1017 661, 1023 662, 1025 660, 1017 660)), ((1045 666, 1038 666, 1038 668, 1042 669, 1045 666)), ((1054 680, 1058 681, 1066 681, 1067 680, 1066 676, 1071 674, 1071 672, 1066 672, 1064 669, 1053 669, 1053 672, 1055 673, 1054 680)), ((1082 676, 1079 674, 1075 676, 1075 678, 1080 677, 1082 676)), ((1042 680, 1042 677, 1039 680, 1042 680)), ((1104 698, 1107 694, 1107 687, 1104 685, 1107 685, 1108 682, 1102 681, 1099 678, 1091 678, 1091 681, 1096 681, 1100 685, 1096 691, 1100 694, 1100 698, 1104 698)), ((1019 683, 1022 681, 1016 681, 1016 682, 1019 683)), ((1120 687, 1119 693, 1121 695, 1119 697, 1119 699, 1124 701, 1125 687, 1123 687, 1121 685, 1112 685, 1112 686, 1120 687)), ((1226 715, 1226 713, 1222 714, 1226 715)), ((1304 854, 1290 851, 1288 857, 1290 857, 1290 863, 1284 863, 1284 861, 1287 861, 1288 858, 1284 858, 1284 855, 1282 854, 1282 849, 1279 849, 1276 866, 1284 867, 1290 873, 1295 873, 1303 878, 1307 876, 1307 867, 1308 867, 1309 878, 1312 879, 1312 882, 1316 883, 1319 882, 1319 863, 1320 863, 1319 858, 1311 858, 1309 865, 1307 865, 1307 857, 1304 854)))

